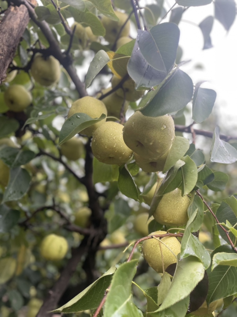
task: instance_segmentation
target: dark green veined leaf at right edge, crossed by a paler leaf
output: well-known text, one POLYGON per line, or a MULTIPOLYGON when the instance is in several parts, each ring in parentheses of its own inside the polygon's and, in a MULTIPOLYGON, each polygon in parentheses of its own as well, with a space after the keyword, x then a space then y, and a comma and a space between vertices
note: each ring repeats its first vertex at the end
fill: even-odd
MULTIPOLYGON (((216 253, 225 252, 235 254, 230 245, 224 244, 216 248, 211 257, 213 258, 216 253)), ((209 289, 207 294, 207 303, 216 301, 220 298, 234 295, 237 293, 237 268, 234 266, 218 265, 211 271, 208 269, 209 289)))

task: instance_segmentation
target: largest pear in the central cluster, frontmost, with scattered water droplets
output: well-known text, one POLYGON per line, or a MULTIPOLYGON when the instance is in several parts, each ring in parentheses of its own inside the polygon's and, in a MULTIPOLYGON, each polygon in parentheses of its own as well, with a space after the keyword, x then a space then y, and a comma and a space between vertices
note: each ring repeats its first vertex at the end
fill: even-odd
POLYGON ((170 115, 147 117, 136 111, 125 123, 124 142, 138 155, 158 160, 168 155, 175 134, 170 115))

